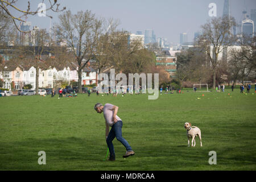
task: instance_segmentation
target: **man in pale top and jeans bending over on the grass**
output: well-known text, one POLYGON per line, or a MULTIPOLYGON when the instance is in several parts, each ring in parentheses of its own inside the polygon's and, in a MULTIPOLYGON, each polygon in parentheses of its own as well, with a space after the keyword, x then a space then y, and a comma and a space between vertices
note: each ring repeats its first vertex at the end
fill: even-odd
POLYGON ((97 111, 97 113, 104 114, 105 118, 105 124, 106 124, 106 143, 109 147, 110 157, 109 160, 115 160, 115 152, 114 152, 114 146, 113 146, 113 139, 116 137, 119 142, 123 144, 126 148, 126 154, 123 155, 123 158, 127 158, 130 155, 134 155, 134 151, 132 150, 129 143, 122 137, 122 126, 123 122, 122 119, 118 117, 117 111, 118 106, 112 105, 112 104, 105 104, 103 106, 100 103, 97 103, 94 106, 94 109, 97 111), (111 130, 109 131, 109 126, 111 126, 111 130))

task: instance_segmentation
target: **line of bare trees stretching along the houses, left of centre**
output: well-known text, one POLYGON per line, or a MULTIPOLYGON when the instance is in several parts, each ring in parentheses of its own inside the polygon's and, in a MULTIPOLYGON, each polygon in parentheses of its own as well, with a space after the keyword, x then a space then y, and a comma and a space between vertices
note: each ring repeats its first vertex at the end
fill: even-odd
MULTIPOLYGON (((9 16, 1 16, 1 23, 10 21, 9 16)), ((39 69, 49 69, 58 64, 76 63, 79 92, 82 91, 82 69, 91 60, 94 62, 90 66, 100 73, 110 67, 115 68, 116 73, 125 74, 158 72, 154 68, 154 53, 142 47, 140 40, 129 43, 129 32, 118 30, 118 25, 118 20, 97 18, 89 10, 77 14, 67 10, 59 15, 59 23, 54 24, 51 34, 45 29, 20 34, 13 26, 1 26, 5 29, 3 39, 9 36, 8 42, 2 40, 1 48, 4 55, 11 56, 10 61, 36 68, 36 94, 39 88, 39 69), (23 45, 24 39, 21 36, 26 35, 32 39, 31 46, 23 45), (12 44, 14 51, 10 52, 7 44, 12 44)))

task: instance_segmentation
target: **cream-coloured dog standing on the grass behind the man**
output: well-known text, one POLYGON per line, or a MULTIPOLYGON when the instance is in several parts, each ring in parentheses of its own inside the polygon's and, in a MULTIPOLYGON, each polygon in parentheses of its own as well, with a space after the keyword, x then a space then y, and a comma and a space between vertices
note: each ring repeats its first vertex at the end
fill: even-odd
POLYGON ((192 147, 196 146, 196 140, 195 140, 196 136, 199 137, 200 143, 201 143, 201 146, 202 146, 201 130, 196 126, 191 126, 191 123, 188 123, 188 122, 186 122, 184 124, 184 128, 187 130, 188 147, 189 147, 189 138, 192 138, 191 146, 192 147))

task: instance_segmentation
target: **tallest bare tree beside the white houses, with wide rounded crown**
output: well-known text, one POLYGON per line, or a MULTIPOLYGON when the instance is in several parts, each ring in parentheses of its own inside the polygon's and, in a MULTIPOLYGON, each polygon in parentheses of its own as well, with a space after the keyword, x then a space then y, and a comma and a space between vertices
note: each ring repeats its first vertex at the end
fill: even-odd
POLYGON ((95 57, 98 40, 102 32, 102 20, 86 10, 72 14, 65 11, 59 16, 60 23, 55 30, 59 42, 67 43, 67 47, 76 57, 79 76, 79 93, 82 92, 82 69, 95 57))

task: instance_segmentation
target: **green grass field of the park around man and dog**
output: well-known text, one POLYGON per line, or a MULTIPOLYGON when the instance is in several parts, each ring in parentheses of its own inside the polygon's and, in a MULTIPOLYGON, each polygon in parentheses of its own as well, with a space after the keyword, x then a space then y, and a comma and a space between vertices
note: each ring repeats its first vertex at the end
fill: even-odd
POLYGON ((256 94, 230 91, 183 90, 158 100, 0 97, 0 170, 255 170, 256 94), (125 147, 114 139, 116 160, 104 161, 105 120, 93 110, 96 102, 119 107, 134 156, 123 159, 125 147), (199 138, 187 147, 185 122, 201 129, 203 147, 199 138), (39 151, 46 152, 46 165, 38 164, 39 151), (209 165, 209 151, 216 151, 217 165, 209 165))

